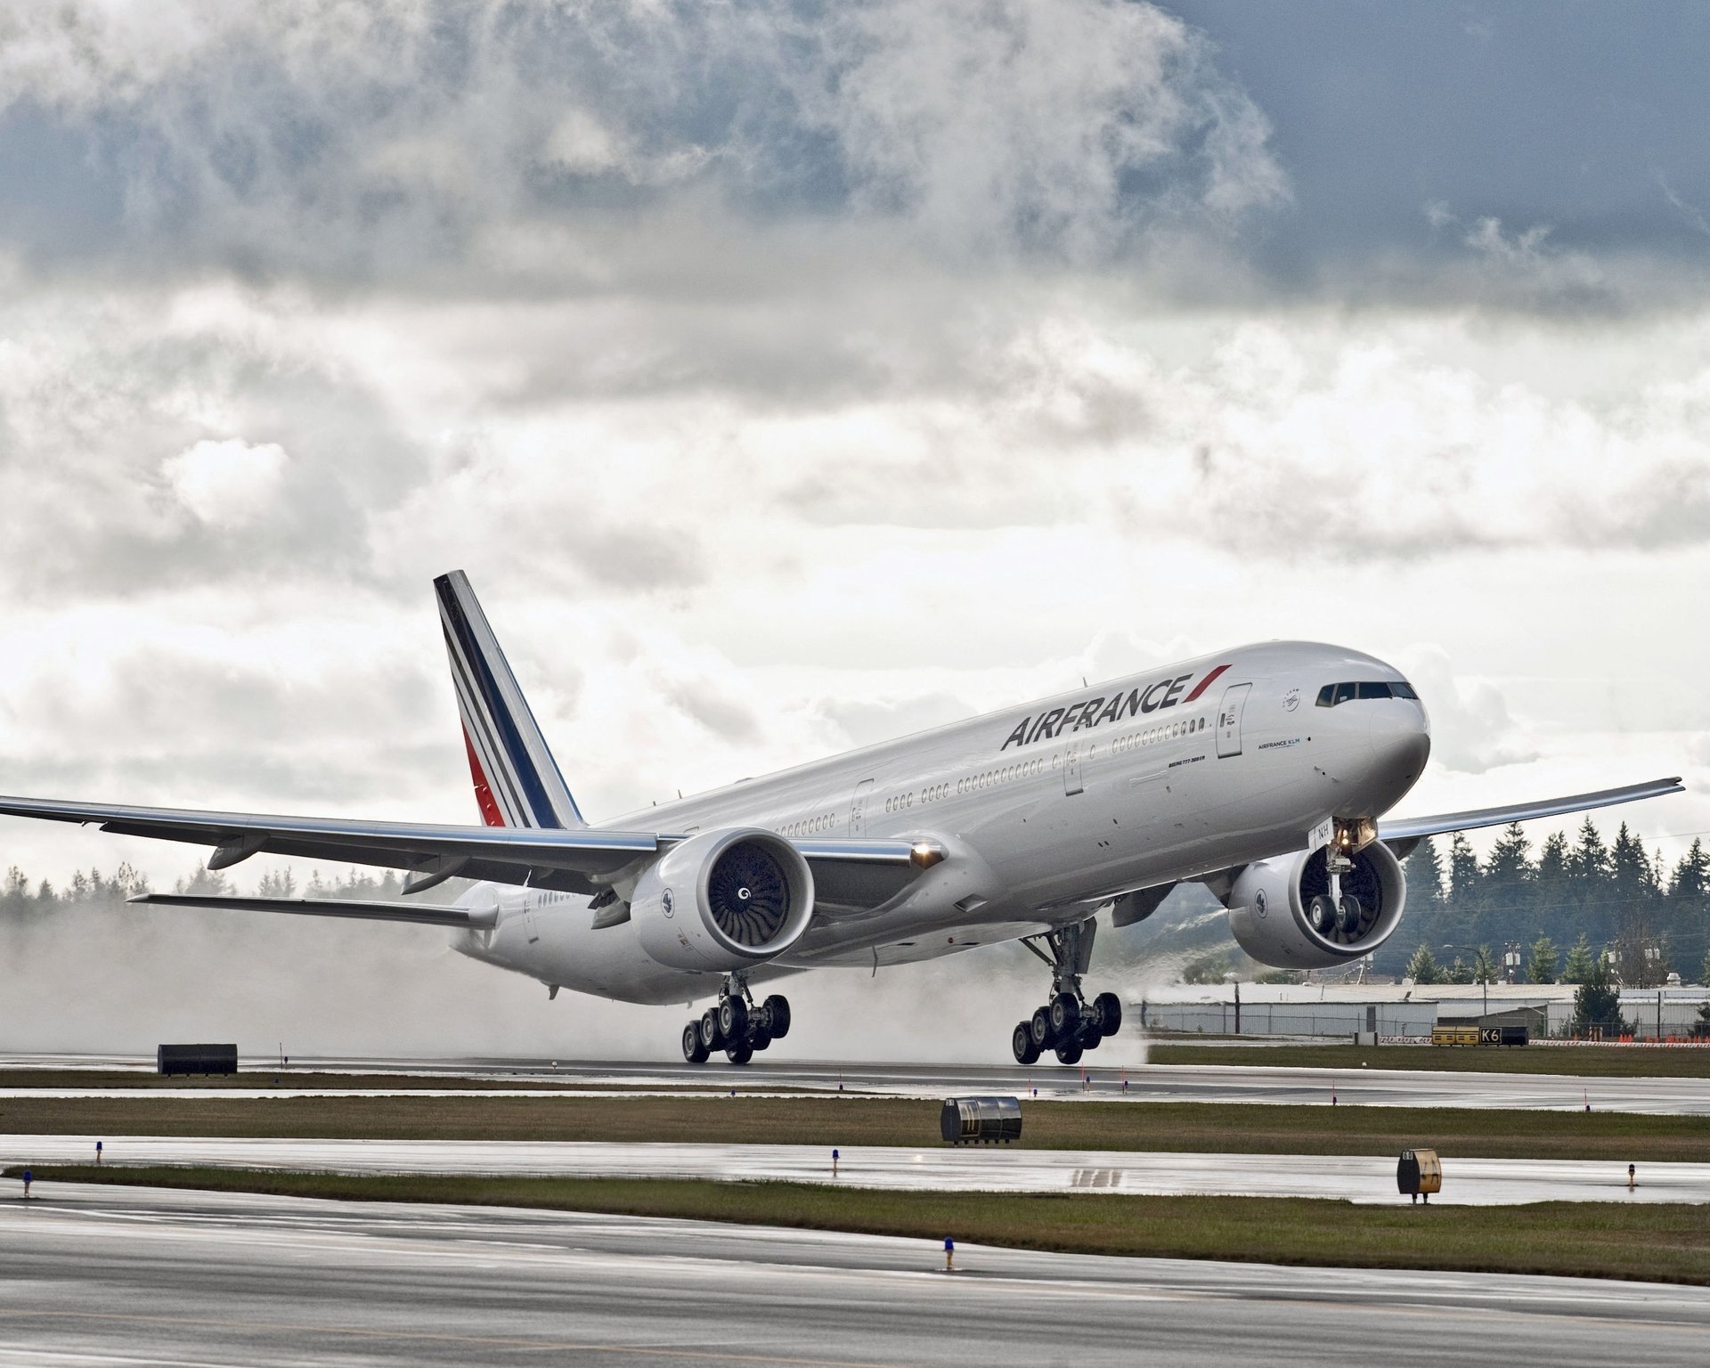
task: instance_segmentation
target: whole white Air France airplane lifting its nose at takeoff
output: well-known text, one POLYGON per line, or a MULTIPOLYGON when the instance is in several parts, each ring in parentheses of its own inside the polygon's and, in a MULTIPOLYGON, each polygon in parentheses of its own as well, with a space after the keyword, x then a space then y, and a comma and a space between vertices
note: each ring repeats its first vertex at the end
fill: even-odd
POLYGON ((1077 1064, 1122 1024, 1115 994, 1082 988, 1101 911, 1129 927, 1197 881, 1253 959, 1347 964, 1395 934, 1421 840, 1683 792, 1676 776, 1390 819, 1431 752, 1418 693, 1371 655, 1271 641, 588 823, 469 578, 434 592, 481 826, 39 799, 0 814, 209 845, 210 870, 262 853, 404 870, 404 901, 132 901, 448 927, 552 997, 710 999, 682 1028, 691 1064, 747 1064, 788 1035, 788 999, 754 987, 1021 940, 1050 994, 1011 1050, 1077 1064), (416 898, 448 879, 475 882, 455 905, 416 898))

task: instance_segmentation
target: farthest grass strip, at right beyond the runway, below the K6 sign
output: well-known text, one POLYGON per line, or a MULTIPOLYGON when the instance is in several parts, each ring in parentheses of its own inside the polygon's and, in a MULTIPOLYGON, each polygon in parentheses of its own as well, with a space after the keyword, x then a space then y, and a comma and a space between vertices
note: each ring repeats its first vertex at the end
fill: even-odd
POLYGON ((1589 1079, 1710 1077, 1710 1047, 1657 1045, 1185 1045, 1153 1041, 1147 1064, 1243 1069, 1419 1069, 1454 1074, 1568 1074, 1589 1079))

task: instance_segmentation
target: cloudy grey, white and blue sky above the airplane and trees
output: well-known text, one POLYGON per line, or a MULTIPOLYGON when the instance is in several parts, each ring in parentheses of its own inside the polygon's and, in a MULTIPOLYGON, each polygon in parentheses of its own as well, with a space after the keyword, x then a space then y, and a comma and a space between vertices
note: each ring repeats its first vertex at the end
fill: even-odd
MULTIPOLYGON (((1710 9, 0 7, 0 792, 616 814, 1236 641, 1710 828, 1710 9)), ((1541 834, 1541 833, 1539 833, 1541 834)), ((0 823, 62 879, 180 846, 0 823)), ((260 862, 245 876, 260 872, 260 862)))

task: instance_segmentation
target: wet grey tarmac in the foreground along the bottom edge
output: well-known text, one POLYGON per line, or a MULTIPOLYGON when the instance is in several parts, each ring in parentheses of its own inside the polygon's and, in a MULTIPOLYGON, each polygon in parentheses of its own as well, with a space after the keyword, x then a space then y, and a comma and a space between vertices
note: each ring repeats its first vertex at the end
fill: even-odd
POLYGON ((453 1206, 0 1200, 0 1365, 1701 1365, 1710 1294, 453 1206))

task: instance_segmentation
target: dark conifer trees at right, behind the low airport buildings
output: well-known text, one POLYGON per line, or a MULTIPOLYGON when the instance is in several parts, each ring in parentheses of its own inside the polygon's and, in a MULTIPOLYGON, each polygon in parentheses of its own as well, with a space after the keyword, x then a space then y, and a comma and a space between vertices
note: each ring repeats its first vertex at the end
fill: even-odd
POLYGON ((1373 968, 1419 983, 1495 983, 1507 978, 1507 947, 1520 946, 1527 983, 1710 982, 1710 855, 1698 838, 1671 869, 1626 823, 1606 843, 1587 817, 1573 840, 1554 831, 1536 853, 1513 823, 1483 860, 1457 831, 1447 860, 1424 840, 1404 869, 1411 934, 1378 951, 1373 968))

